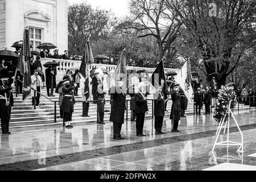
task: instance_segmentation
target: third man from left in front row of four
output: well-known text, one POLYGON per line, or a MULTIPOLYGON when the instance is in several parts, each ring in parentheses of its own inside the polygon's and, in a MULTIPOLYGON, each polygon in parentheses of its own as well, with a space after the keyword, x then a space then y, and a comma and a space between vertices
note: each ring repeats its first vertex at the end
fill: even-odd
POLYGON ((155 134, 164 134, 162 132, 163 118, 164 118, 164 94, 162 93, 162 86, 158 86, 158 92, 154 93, 154 114, 155 114, 155 134))

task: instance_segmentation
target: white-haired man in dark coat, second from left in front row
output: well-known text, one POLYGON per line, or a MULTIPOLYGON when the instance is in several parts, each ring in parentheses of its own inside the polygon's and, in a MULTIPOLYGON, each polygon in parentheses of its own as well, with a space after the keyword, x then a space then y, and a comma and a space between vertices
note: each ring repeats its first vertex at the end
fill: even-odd
POLYGON ((135 94, 135 111, 136 111, 136 132, 138 137, 145 137, 143 134, 143 126, 145 113, 148 114, 147 97, 144 90, 144 83, 138 84, 139 92, 135 94))

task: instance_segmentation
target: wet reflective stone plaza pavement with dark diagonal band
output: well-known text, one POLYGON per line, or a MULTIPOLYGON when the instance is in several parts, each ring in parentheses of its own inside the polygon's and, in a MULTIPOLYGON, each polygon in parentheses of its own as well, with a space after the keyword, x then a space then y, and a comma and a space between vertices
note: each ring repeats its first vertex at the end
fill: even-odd
MULTIPOLYGON (((217 129, 213 115, 187 115, 181 118, 180 133, 171 133, 171 121, 164 118, 164 135, 155 135, 154 119, 146 120, 147 137, 137 137, 135 122, 125 121, 121 131, 124 140, 113 139, 110 122, 104 126, 85 123, 71 130, 63 127, 12 130, 11 135, 0 135, 0 170, 254 169, 251 166, 256 166, 256 111, 234 115, 243 133, 242 155, 236 152, 236 146, 216 146, 212 154, 217 129)), ((230 127, 230 139, 240 142, 240 133, 232 119, 230 127)), ((226 135, 220 136, 220 140, 225 138, 226 135)))

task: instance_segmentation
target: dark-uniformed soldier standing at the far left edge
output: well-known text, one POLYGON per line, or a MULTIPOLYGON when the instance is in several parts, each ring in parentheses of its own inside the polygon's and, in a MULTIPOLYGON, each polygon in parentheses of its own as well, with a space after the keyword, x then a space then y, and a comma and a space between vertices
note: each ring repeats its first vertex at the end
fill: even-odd
POLYGON ((11 109, 13 109, 13 89, 14 84, 9 85, 9 78, 2 78, 0 81, 0 117, 2 134, 11 134, 9 131, 9 122, 11 118, 11 109))

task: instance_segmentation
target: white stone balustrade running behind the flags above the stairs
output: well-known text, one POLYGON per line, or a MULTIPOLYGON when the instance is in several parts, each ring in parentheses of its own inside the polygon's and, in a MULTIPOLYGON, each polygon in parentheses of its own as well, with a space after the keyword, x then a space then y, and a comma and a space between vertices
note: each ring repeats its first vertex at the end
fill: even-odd
MULTIPOLYGON (((63 59, 52 59, 52 58, 42 58, 41 59, 41 63, 42 65, 46 64, 47 62, 50 61, 56 61, 57 63, 60 63, 60 66, 57 67, 57 77, 56 77, 56 81, 60 81, 62 80, 62 78, 65 76, 66 72, 68 70, 71 70, 72 72, 75 72, 76 69, 80 69, 81 66, 81 61, 77 61, 77 60, 63 60, 63 59)), ((114 71, 115 68, 117 67, 117 65, 109 65, 109 64, 90 64, 90 70, 94 69, 94 68, 105 68, 107 71, 114 71)), ((129 69, 135 69, 135 71, 138 70, 147 70, 149 72, 154 72, 155 68, 142 68, 142 67, 130 67, 127 66, 126 67, 127 70, 129 69)), ((46 68, 43 68, 43 73, 46 73, 46 68)), ((171 68, 165 68, 164 71, 166 73, 173 71, 176 73, 180 72, 180 69, 171 69, 171 68)))

